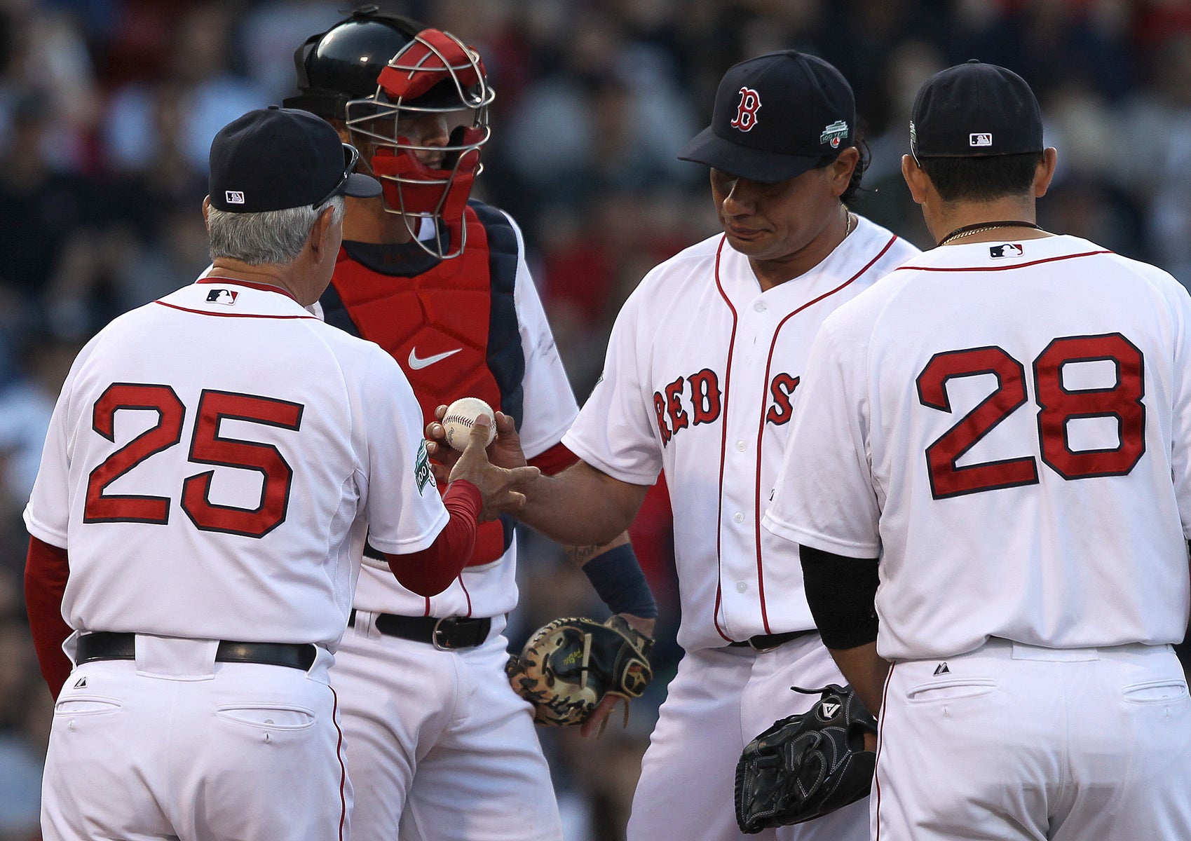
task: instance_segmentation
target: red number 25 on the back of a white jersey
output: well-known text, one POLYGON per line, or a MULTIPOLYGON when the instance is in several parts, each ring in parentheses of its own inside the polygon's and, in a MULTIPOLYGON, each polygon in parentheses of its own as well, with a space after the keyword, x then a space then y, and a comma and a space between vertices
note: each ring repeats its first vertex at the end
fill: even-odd
MULTIPOLYGON (((110 455, 87 480, 85 523, 169 522, 169 497, 105 493, 108 485, 132 471, 149 456, 169 449, 182 440, 186 406, 169 386, 114 382, 95 401, 92 425, 114 441, 116 413, 120 410, 157 412, 157 423, 110 455)), ((210 500, 214 471, 188 476, 182 482, 182 510, 202 531, 224 531, 245 537, 263 537, 286 518, 293 469, 273 444, 241 441, 219 435, 224 419, 247 420, 297 431, 303 406, 254 394, 204 391, 199 400, 191 461, 218 465, 261 474, 261 502, 255 509, 216 505, 210 500)))

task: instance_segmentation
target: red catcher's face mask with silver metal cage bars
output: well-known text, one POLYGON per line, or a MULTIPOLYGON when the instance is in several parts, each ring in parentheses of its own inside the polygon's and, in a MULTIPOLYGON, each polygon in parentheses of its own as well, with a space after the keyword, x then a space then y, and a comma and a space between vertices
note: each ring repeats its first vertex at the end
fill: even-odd
POLYGON ((456 257, 466 244, 463 208, 484 169, 480 148, 491 136, 494 93, 484 63, 455 36, 426 29, 393 56, 376 82, 373 96, 347 104, 348 130, 374 148, 372 170, 385 189, 385 210, 405 219, 424 250, 456 257), (418 237, 424 222, 436 226, 437 236, 418 237))

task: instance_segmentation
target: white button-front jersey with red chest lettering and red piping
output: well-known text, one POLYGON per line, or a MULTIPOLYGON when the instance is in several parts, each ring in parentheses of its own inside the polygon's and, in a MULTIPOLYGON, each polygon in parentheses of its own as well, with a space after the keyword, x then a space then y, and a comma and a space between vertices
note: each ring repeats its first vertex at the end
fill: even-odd
POLYGON ((784 547, 760 528, 793 398, 823 318, 917 253, 860 218, 823 262, 762 292, 715 236, 653 269, 622 309, 563 443, 635 485, 666 471, 685 649, 813 628, 802 568, 773 563, 784 547))

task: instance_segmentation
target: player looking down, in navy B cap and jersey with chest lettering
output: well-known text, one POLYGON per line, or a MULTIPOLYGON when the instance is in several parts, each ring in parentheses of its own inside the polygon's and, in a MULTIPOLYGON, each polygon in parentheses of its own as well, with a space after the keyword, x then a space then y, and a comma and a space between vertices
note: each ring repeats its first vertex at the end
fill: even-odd
MULTIPOLYGON (((682 150, 711 167, 723 235, 653 269, 621 311, 603 379, 567 432, 581 461, 526 490, 519 517, 565 542, 606 540, 666 472, 685 656, 632 802, 630 841, 743 839, 741 750, 842 683, 803 593, 760 528, 810 341, 828 313, 917 251, 848 211, 860 179, 852 89, 792 50, 736 64, 711 126, 682 150)), ((800 397, 799 397, 800 399, 800 397)), ((498 418, 501 436, 510 423, 498 418)), ((862 803, 766 839, 867 839, 862 803)))

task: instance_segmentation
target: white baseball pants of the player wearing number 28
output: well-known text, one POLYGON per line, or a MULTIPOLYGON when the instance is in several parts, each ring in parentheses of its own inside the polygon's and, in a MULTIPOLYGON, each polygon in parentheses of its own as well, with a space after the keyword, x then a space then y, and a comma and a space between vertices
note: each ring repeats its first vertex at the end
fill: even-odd
POLYGON ((1186 841, 1191 699, 1170 646, 991 640, 893 666, 880 841, 1186 841))

